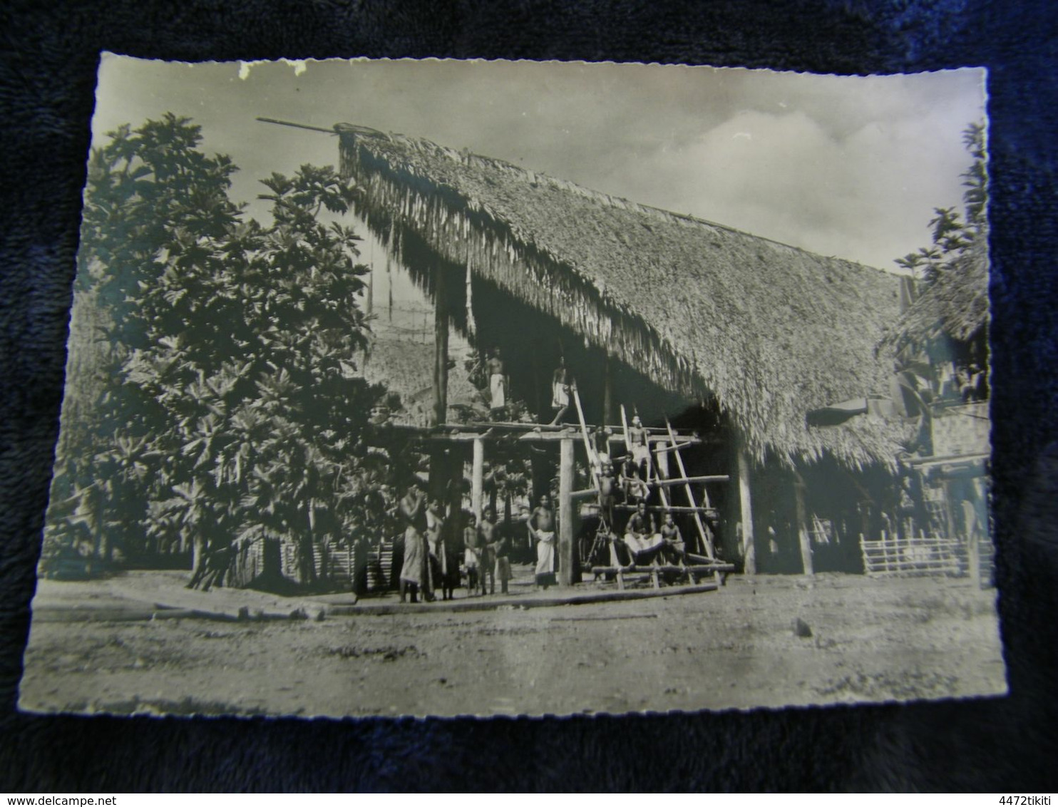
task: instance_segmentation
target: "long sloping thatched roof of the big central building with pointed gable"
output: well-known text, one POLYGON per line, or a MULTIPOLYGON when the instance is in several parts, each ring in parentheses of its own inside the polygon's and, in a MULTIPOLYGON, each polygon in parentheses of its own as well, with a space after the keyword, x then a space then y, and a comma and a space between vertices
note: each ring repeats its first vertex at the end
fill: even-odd
POLYGON ((358 214, 390 249, 415 237, 662 387, 715 396, 761 460, 893 463, 899 424, 814 428, 805 415, 888 391, 874 348, 899 314, 895 276, 428 141, 334 128, 358 214))

